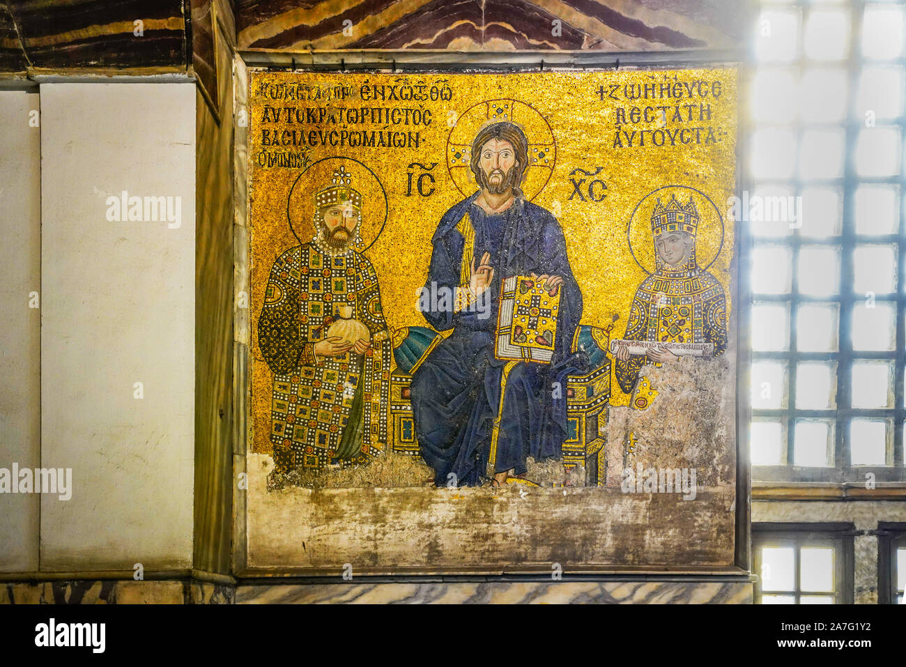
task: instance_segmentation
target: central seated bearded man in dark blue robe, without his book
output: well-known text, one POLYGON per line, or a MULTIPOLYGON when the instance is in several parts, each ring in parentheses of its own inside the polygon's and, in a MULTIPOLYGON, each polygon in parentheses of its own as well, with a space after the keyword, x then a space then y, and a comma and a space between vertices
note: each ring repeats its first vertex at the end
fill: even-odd
POLYGON ((452 331, 413 375, 412 415, 437 486, 502 486, 525 475, 528 457, 562 456, 565 378, 581 361, 570 349, 582 294, 559 223, 520 189, 525 133, 512 122, 489 124, 469 160, 479 189, 440 218, 421 291, 439 297, 419 305, 431 326, 452 331), (549 363, 495 355, 501 283, 517 275, 562 290, 549 363))

